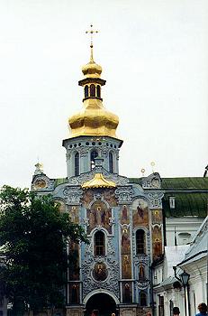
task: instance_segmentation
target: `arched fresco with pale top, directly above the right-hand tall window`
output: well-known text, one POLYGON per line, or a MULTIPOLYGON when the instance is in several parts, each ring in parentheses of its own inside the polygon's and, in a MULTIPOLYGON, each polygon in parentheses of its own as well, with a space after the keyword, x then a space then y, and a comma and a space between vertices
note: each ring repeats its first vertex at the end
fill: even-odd
POLYGON ((149 207, 144 199, 136 199, 132 203, 133 227, 149 226, 149 207))

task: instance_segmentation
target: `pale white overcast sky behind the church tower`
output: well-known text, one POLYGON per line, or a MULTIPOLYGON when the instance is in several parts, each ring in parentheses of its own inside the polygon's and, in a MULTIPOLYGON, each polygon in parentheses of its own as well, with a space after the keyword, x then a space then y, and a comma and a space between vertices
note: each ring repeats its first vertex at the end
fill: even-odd
POLYGON ((0 185, 29 187, 38 157, 66 177, 93 23, 104 106, 120 117, 120 173, 202 176, 208 163, 207 0, 1 0, 0 185))

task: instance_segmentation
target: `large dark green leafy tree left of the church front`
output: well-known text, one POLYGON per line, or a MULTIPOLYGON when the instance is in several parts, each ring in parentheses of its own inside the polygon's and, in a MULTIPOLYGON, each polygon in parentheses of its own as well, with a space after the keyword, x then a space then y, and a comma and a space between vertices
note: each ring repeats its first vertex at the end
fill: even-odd
MULTIPOLYGON (((0 282, 13 303, 14 315, 62 306, 70 259, 68 242, 86 242, 83 228, 60 213, 51 196, 4 186, 0 191, 0 246, 5 265, 0 282)), ((72 258, 71 258, 72 260, 72 258)))

